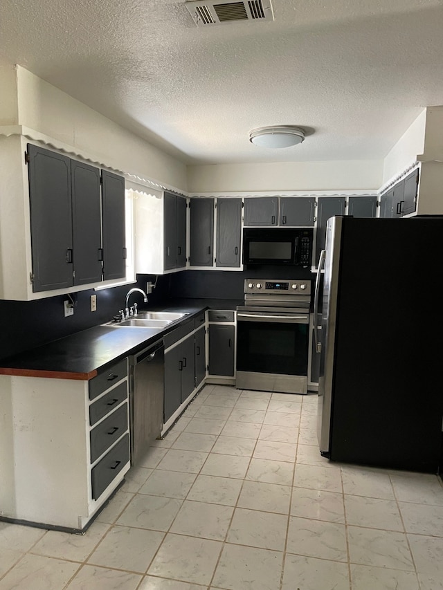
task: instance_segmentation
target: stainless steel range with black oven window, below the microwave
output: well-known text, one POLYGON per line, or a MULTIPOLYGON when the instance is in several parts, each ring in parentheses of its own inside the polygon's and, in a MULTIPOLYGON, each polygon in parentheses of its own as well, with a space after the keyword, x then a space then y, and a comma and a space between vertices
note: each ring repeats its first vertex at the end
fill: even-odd
POLYGON ((310 305, 309 280, 246 279, 236 387, 307 394, 310 305))

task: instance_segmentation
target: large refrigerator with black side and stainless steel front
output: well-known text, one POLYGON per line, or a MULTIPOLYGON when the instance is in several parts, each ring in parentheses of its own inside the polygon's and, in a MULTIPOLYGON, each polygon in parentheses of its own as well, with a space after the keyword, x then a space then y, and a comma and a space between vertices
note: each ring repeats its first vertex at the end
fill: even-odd
MULTIPOLYGON (((327 222, 320 453, 436 473, 443 423, 443 218, 327 222)), ((321 304, 320 304, 321 302, 321 304)), ((318 325, 319 322, 315 322, 318 325)))

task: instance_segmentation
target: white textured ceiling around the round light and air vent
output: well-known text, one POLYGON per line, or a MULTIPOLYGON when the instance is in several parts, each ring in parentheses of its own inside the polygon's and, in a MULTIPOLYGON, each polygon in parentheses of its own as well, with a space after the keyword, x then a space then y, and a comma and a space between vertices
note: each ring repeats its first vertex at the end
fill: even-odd
POLYGON ((442 0, 272 0, 195 26, 183 0, 1 0, 0 59, 186 163, 383 158, 443 104, 442 0), (289 149, 248 131, 297 125, 289 149))

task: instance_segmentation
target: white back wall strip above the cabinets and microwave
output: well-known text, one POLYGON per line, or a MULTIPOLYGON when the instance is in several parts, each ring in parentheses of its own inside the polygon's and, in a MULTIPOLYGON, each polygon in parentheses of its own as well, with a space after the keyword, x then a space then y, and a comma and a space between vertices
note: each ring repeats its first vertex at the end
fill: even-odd
POLYGON ((373 192, 382 177, 383 160, 201 165, 188 167, 188 191, 373 192))

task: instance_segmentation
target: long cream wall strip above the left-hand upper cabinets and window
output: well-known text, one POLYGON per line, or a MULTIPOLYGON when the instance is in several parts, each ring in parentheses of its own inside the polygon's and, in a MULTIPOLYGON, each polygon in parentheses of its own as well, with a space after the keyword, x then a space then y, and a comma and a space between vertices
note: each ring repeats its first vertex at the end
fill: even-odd
POLYGON ((109 167, 186 191, 186 165, 17 66, 18 122, 109 167))

